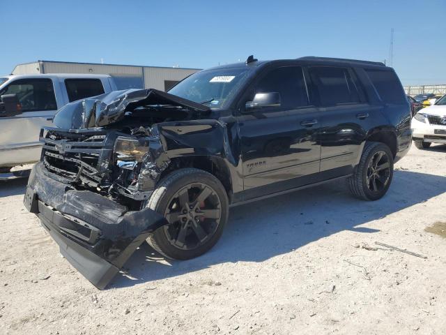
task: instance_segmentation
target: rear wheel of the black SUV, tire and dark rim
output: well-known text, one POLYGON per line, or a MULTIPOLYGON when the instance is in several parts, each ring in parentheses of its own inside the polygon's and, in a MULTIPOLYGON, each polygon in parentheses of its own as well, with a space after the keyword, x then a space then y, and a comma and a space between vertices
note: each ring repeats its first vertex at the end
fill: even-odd
POLYGON ((380 142, 366 142, 360 163, 347 181, 356 198, 373 201, 387 193, 392 177, 393 154, 390 148, 380 142))

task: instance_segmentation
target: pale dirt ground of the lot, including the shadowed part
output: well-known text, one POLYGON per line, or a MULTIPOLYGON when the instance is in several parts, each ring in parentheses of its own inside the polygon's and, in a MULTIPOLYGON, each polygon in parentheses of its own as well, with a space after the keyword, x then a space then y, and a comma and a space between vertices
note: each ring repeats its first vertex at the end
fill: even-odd
POLYGON ((0 183, 0 334, 446 334, 446 146, 413 146, 377 202, 337 181, 231 209, 194 260, 144 244, 104 291, 25 211, 25 186, 0 183))

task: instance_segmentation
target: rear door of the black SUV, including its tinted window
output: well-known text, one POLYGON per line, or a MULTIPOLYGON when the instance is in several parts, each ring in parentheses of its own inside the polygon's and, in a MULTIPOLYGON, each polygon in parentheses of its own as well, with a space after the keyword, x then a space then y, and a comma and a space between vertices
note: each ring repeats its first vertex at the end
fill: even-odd
POLYGON ((321 178, 349 174, 360 158, 378 107, 367 103, 352 68, 310 66, 308 73, 321 110, 321 178))

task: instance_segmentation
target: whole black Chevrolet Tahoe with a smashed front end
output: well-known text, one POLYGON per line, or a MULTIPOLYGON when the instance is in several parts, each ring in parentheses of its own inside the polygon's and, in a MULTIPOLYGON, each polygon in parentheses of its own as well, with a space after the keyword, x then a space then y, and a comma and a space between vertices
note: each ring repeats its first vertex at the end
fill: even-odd
POLYGON ((205 253, 233 204, 334 179, 378 200, 411 143, 392 68, 320 57, 250 56, 167 93, 70 103, 54 124, 24 204, 100 289, 143 241, 167 258, 205 253))

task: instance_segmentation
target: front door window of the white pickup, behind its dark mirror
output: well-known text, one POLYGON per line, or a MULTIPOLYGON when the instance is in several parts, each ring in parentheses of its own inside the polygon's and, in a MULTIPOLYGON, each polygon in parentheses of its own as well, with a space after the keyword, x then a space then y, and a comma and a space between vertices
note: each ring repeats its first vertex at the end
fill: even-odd
POLYGON ((57 110, 53 82, 50 79, 20 79, 11 82, 0 92, 16 94, 23 112, 57 110))

